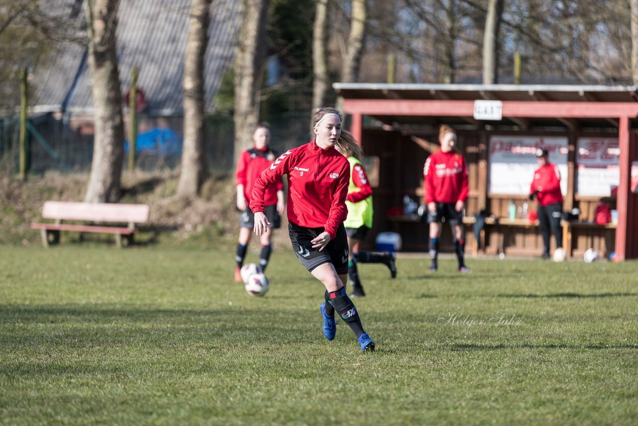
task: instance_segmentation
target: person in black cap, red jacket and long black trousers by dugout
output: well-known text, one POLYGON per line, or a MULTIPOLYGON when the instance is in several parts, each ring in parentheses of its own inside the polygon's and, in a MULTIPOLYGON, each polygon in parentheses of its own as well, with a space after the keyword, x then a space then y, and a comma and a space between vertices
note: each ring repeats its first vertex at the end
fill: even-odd
POLYGON ((538 169, 530 186, 530 200, 537 199, 536 212, 538 224, 543 236, 543 259, 549 259, 550 231, 556 238, 556 248, 563 247, 563 232, 560 225, 563 215, 563 194, 560 191, 560 172, 555 164, 549 162, 546 149, 537 149, 538 169))

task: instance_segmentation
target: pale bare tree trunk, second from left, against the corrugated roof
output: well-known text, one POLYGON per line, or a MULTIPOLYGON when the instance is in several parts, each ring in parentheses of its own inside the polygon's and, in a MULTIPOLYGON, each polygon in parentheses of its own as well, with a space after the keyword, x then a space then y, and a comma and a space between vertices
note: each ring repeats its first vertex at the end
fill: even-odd
POLYGON ((204 58, 212 0, 193 0, 184 57, 184 149, 177 195, 194 197, 207 178, 204 146, 204 58))

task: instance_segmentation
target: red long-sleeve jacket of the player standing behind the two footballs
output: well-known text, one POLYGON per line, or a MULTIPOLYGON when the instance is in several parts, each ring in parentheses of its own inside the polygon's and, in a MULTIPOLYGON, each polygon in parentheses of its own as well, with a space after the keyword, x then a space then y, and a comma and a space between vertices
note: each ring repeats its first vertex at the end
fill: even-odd
MULTIPOLYGON (((239 155, 237 161, 237 172, 235 173, 235 185, 244 185, 244 197, 246 205, 250 203, 253 196, 253 186, 258 176, 267 169, 279 154, 274 153, 269 148, 247 149, 239 155)), ((266 190, 264 203, 266 206, 277 204, 277 191, 283 190, 281 179, 276 185, 271 185, 266 190)))

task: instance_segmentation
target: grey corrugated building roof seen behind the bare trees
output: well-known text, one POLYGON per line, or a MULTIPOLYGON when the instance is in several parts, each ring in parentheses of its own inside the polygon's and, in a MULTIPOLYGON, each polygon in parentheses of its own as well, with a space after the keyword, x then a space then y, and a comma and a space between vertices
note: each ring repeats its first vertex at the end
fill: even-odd
MULTIPOLYGON (((57 0, 56 8, 71 8, 72 0, 57 0)), ((209 45, 205 58, 205 103, 214 110, 214 95, 234 57, 239 31, 238 0, 216 0, 211 6, 209 45)), ((118 11, 117 52, 122 93, 131 84, 131 70, 139 69, 138 88, 147 101, 145 112, 182 114, 184 54, 191 0, 128 0, 118 11)), ((75 19, 84 19, 84 12, 75 19)), ((86 49, 61 43, 47 66, 34 75, 36 112, 66 111, 91 114, 91 71, 86 49)))

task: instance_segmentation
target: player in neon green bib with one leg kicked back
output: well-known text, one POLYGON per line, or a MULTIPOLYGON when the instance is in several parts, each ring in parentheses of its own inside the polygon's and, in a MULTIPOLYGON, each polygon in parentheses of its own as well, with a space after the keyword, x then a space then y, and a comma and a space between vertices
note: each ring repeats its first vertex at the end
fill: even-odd
POLYGON ((355 153, 343 152, 340 148, 337 147, 350 163, 350 185, 346 198, 348 217, 343 222, 348 235, 348 278, 352 285, 350 297, 363 297, 366 293, 359 278, 357 263, 383 263, 390 268, 390 275, 394 278, 397 275, 396 254, 359 251, 360 241, 366 238, 367 232, 372 228, 372 186, 367 178, 366 169, 355 157, 355 153))

